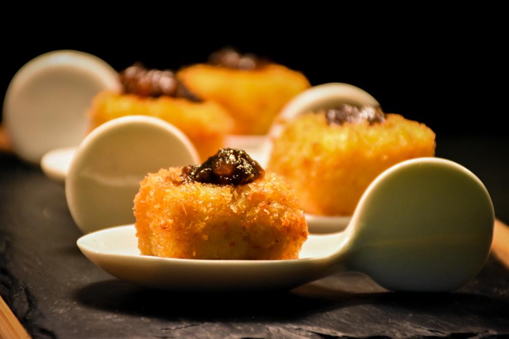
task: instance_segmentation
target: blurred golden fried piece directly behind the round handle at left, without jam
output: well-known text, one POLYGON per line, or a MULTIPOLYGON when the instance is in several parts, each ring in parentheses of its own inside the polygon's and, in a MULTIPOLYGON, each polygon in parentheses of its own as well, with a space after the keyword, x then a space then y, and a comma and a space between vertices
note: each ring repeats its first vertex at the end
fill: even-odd
POLYGON ((193 103, 181 98, 141 98, 129 94, 102 92, 92 102, 91 127, 125 115, 150 115, 180 129, 205 160, 223 146, 233 120, 219 105, 206 101, 193 103))

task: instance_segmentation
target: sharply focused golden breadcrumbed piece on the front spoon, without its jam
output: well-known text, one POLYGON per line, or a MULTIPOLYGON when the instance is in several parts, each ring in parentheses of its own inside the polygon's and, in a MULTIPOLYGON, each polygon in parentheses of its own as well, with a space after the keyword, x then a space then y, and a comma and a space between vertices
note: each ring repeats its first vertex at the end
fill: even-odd
POLYGON ((294 259, 307 238, 297 199, 274 174, 246 185, 184 183, 161 169, 134 198, 144 255, 188 259, 294 259))

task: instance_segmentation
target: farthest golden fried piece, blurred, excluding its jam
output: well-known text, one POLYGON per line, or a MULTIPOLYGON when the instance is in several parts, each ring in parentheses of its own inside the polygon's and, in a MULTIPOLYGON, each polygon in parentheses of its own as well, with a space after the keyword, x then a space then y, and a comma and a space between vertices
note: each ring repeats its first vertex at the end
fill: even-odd
POLYGON ((267 133, 281 108, 309 87, 303 74, 274 64, 252 71, 200 64, 177 76, 198 96, 225 107, 236 134, 267 133))

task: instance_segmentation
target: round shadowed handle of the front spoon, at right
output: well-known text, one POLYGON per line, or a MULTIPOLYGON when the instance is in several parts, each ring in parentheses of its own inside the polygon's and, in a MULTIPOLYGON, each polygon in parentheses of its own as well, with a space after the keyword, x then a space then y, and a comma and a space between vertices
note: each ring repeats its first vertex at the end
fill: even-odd
POLYGON ((484 265, 494 211, 483 183, 439 158, 395 165, 365 191, 333 262, 389 290, 451 291, 484 265))

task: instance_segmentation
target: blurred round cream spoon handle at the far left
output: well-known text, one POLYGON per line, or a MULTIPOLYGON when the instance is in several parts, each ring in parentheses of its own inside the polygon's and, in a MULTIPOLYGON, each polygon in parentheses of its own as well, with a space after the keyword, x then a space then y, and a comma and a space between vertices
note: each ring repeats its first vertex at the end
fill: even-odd
POLYGON ((14 152, 39 163, 51 149, 78 145, 94 96, 119 88, 117 72, 88 53, 53 51, 29 61, 12 78, 4 101, 14 152))

